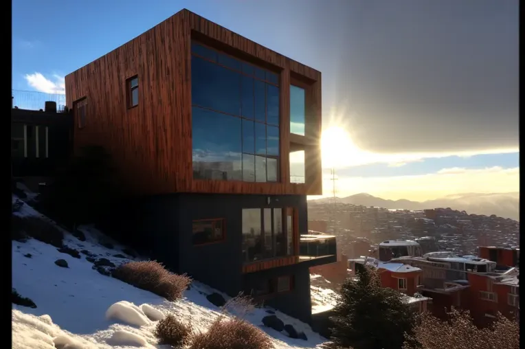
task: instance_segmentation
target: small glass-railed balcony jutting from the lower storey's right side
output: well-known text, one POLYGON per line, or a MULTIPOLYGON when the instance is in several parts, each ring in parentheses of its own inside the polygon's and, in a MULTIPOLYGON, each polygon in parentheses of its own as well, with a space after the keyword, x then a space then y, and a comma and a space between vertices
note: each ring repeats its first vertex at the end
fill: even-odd
POLYGON ((333 235, 301 235, 299 262, 308 262, 309 267, 337 262, 337 243, 333 235))

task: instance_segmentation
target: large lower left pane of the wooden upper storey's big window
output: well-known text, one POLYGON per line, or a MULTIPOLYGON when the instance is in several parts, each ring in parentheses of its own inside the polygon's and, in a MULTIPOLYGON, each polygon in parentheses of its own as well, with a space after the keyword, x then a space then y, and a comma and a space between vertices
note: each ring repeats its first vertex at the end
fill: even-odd
POLYGON ((194 106, 192 160, 196 179, 241 180, 241 119, 194 106))

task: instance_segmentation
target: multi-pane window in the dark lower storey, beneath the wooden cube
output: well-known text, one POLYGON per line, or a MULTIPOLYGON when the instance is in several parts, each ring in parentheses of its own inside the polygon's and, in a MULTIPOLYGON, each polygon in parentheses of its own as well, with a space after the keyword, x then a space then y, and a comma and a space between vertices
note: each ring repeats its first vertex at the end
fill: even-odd
POLYGON ((254 262, 293 253, 291 209, 248 208, 243 210, 243 260, 254 262))

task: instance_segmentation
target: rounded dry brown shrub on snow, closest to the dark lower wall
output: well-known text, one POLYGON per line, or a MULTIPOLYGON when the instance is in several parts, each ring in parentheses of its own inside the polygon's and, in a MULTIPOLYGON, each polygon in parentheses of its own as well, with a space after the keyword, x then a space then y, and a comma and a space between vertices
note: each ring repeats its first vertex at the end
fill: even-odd
POLYGON ((112 275, 113 278, 153 292, 170 301, 182 297, 191 283, 191 279, 186 274, 172 273, 155 260, 124 263, 115 269, 112 275))

